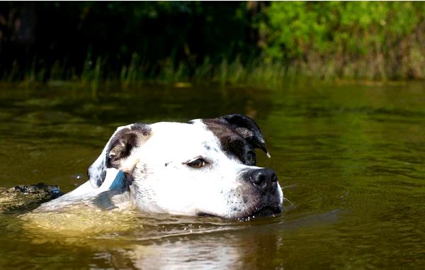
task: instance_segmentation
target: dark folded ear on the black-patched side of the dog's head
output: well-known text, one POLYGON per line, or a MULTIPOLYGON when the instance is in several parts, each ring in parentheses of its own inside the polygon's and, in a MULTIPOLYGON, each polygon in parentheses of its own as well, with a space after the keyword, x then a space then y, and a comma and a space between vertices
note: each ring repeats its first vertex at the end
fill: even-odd
POLYGON ((232 129, 244 137, 254 148, 263 150, 263 152, 267 154, 267 157, 270 157, 266 148, 266 142, 263 139, 263 135, 261 135, 259 125, 257 125, 252 118, 238 113, 229 114, 220 118, 229 123, 232 129))

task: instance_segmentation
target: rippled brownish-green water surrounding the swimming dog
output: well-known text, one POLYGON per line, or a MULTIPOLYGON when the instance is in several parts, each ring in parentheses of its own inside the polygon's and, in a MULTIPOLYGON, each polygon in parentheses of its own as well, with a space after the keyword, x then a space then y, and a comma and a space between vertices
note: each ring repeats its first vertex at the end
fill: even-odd
MULTIPOLYGON (((0 214, 0 269, 419 269, 425 266, 425 84, 283 89, 0 91, 0 186, 86 181, 118 125, 254 116, 282 215, 0 214)), ((28 198, 2 196, 3 206, 28 198)))

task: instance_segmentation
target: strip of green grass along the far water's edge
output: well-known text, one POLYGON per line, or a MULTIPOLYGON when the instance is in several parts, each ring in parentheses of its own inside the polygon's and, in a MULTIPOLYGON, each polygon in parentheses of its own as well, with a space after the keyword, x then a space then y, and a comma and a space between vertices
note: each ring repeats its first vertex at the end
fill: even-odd
POLYGON ((354 59, 342 66, 337 57, 314 57, 314 55, 307 57, 307 60, 294 60, 290 63, 271 61, 266 57, 256 57, 242 62, 241 57, 235 57, 232 61, 222 59, 216 64, 210 61, 209 57, 205 57, 201 64, 193 67, 187 62, 174 64, 171 59, 152 66, 142 63, 137 53, 133 53, 130 63, 123 65, 118 74, 107 72, 107 57, 97 57, 94 61, 87 57, 79 74, 74 68, 63 67, 60 61, 55 62, 50 69, 40 68, 34 59, 22 80, 16 80, 21 69, 15 64, 3 77, 3 81, 18 82, 28 87, 66 82, 81 87, 90 86, 91 91, 96 94, 104 83, 117 85, 123 89, 141 84, 169 84, 179 87, 217 84, 276 88, 290 81, 313 79, 321 81, 424 79, 425 60, 421 50, 412 51, 411 54, 412 61, 394 69, 394 66, 388 64, 380 55, 354 59), (415 72, 413 77, 412 70, 415 72))

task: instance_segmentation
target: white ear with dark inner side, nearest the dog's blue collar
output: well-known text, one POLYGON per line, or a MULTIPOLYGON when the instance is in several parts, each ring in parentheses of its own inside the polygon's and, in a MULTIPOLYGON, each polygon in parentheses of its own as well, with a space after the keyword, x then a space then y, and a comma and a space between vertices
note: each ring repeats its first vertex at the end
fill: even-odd
POLYGON ((94 188, 102 185, 106 177, 107 168, 120 169, 124 173, 130 172, 135 166, 131 152, 139 147, 149 137, 149 125, 135 123, 117 128, 106 143, 105 148, 96 161, 87 170, 87 176, 94 188))

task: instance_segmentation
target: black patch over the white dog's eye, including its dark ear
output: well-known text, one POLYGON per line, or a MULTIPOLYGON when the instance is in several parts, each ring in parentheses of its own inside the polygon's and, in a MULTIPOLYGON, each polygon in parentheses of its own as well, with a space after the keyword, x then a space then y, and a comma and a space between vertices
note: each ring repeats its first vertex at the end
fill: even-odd
POLYGON ((220 140, 222 150, 237 157, 244 164, 255 164, 255 156, 254 162, 247 160, 248 154, 254 154, 254 148, 267 153, 266 142, 259 126, 248 116, 231 114, 215 119, 204 119, 203 123, 220 140))

